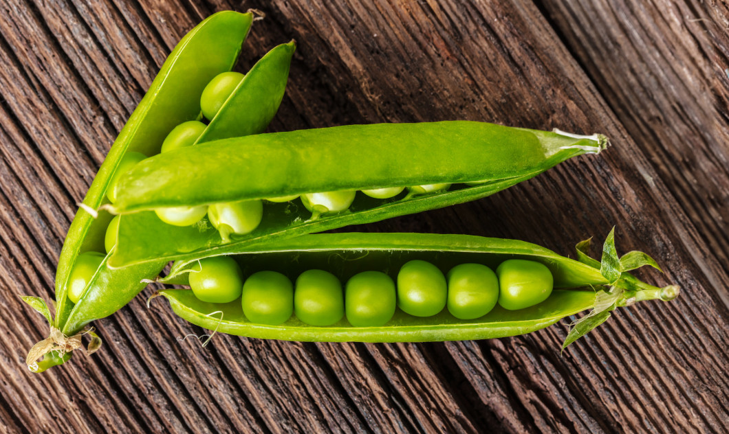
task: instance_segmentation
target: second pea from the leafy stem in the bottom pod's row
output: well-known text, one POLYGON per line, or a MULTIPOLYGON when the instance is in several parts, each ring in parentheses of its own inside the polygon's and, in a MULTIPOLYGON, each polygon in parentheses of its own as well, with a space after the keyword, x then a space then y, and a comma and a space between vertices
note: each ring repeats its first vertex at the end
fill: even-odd
POLYGON ((459 320, 483 317, 499 300, 496 273, 481 264, 460 264, 448 272, 448 312, 459 320))

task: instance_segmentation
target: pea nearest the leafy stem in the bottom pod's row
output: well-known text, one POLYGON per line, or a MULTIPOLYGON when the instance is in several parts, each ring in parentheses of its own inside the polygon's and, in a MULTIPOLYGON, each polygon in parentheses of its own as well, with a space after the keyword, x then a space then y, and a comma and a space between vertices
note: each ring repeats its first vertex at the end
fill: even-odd
POLYGON ((496 268, 499 276, 499 304, 517 310, 545 301, 552 293, 554 278, 545 264, 525 259, 508 259, 496 268))

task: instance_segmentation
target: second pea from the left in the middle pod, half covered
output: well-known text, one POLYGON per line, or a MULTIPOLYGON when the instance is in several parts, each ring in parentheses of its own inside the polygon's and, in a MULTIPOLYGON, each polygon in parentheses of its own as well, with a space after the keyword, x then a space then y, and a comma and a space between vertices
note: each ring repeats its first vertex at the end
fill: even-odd
POLYGON ((208 218, 218 229, 223 241, 230 241, 230 234, 248 234, 256 229, 263 218, 263 202, 241 200, 216 203, 208 207, 208 218))

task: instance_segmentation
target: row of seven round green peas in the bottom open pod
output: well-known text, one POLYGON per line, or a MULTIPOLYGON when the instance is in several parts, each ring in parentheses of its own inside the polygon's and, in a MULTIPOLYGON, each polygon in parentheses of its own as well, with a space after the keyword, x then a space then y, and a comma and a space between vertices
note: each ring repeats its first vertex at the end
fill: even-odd
POLYGON ((456 318, 483 317, 496 304, 517 310, 534 306, 552 293, 550 270, 536 261, 507 259, 496 272, 482 264, 459 264, 447 275, 427 261, 415 259, 397 274, 364 271, 350 277, 344 289, 339 278, 321 269, 301 273, 295 283, 273 271, 254 272, 247 279, 230 256, 200 259, 190 273, 190 288, 201 301, 230 303, 241 299, 252 323, 279 325, 292 315, 308 325, 327 326, 346 316, 356 327, 378 327, 397 307, 417 316, 437 315, 446 307, 456 318))

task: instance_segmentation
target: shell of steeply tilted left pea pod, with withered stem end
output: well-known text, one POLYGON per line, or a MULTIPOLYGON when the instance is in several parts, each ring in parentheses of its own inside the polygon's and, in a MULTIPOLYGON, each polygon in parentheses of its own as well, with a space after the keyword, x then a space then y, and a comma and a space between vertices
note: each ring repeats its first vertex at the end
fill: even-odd
MULTIPOLYGON (((98 218, 93 218, 86 210, 108 203, 106 190, 127 152, 156 154, 165 135, 176 125, 200 119, 203 89, 215 76, 233 68, 253 20, 251 12, 212 15, 187 33, 165 60, 147 94, 114 141, 87 192, 83 209, 71 223, 56 275, 55 320, 39 299, 28 301, 36 310, 47 314, 51 323, 51 336, 36 344, 28 354, 31 371, 40 372, 68 360, 69 352, 80 346, 81 332, 87 323, 125 306, 167 264, 158 260, 123 270, 109 269, 107 255, 77 303, 67 296, 69 276, 79 253, 104 251, 104 234, 111 216, 101 212, 98 218), (47 357, 36 363, 44 354, 47 357)), ((293 42, 282 44, 259 60, 211 119, 198 143, 265 130, 283 98, 294 50, 293 42)), ((92 344, 96 345, 100 341, 93 336, 92 344)))

